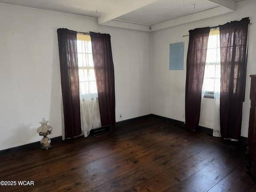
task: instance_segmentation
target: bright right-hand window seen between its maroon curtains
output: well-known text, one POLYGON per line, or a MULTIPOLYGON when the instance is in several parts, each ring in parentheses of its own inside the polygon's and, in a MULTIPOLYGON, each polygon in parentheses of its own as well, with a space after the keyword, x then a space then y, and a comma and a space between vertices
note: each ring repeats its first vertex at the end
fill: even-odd
POLYGON ((220 31, 212 29, 209 33, 206 66, 204 70, 203 93, 206 98, 214 98, 220 91, 220 31))

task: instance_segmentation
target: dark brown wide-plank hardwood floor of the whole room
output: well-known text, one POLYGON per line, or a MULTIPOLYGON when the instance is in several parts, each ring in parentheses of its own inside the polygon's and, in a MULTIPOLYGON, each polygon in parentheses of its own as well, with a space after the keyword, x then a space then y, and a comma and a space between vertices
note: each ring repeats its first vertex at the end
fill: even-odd
POLYGON ((0 180, 16 181, 0 191, 256 192, 256 165, 246 174, 245 146, 157 118, 52 146, 0 157, 0 180))

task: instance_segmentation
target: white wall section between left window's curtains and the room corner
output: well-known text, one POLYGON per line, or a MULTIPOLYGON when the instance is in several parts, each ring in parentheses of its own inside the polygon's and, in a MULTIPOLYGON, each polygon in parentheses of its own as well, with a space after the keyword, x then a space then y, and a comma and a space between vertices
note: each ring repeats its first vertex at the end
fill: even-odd
POLYGON ((151 113, 150 33, 108 26, 115 72, 116 121, 151 113))

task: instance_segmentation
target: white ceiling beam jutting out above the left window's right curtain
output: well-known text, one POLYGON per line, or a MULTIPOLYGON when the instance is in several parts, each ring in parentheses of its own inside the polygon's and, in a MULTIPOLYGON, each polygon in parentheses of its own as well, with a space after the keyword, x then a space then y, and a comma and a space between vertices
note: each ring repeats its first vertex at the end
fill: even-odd
POLYGON ((158 0, 131 0, 130 2, 124 4, 116 8, 116 10, 112 11, 111 13, 102 15, 98 17, 98 24, 102 24, 104 22, 108 22, 112 19, 118 18, 124 14, 130 13, 134 10, 152 4, 158 0))

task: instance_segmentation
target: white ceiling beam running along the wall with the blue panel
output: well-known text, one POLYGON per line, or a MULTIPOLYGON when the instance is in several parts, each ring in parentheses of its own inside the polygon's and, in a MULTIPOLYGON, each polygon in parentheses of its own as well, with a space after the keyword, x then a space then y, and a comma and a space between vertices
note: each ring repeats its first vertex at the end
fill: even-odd
POLYGON ((232 11, 233 10, 220 6, 220 7, 212 8, 202 12, 198 12, 195 14, 191 14, 188 16, 184 16, 177 19, 162 22, 159 24, 155 24, 151 26, 151 31, 156 31, 156 30, 173 27, 176 25, 181 25, 181 24, 185 24, 185 23, 189 23, 189 22, 193 22, 193 21, 197 21, 205 18, 210 18, 210 17, 218 16, 218 15, 225 14, 232 11))

